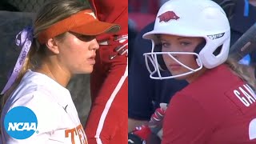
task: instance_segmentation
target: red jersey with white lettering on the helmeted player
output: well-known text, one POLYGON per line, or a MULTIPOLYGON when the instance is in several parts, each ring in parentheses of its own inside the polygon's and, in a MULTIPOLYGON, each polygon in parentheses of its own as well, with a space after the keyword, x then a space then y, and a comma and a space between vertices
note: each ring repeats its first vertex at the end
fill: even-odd
POLYGON ((171 99, 162 143, 256 143, 254 90, 226 65, 206 71, 171 99))

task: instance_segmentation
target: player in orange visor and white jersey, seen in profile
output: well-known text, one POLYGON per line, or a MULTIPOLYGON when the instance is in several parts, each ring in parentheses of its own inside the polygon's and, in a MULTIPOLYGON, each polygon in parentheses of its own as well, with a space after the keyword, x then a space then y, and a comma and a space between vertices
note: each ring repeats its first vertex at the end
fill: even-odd
POLYGON ((86 144, 78 112, 65 87, 74 74, 93 71, 99 48, 95 37, 118 30, 118 25, 98 21, 90 6, 78 0, 54 0, 42 6, 34 27, 16 37, 22 51, 2 90, 2 142, 86 144), (34 60, 38 60, 36 64, 34 60), (18 106, 29 108, 38 119, 37 130, 28 138, 14 138, 6 131, 5 118, 18 106))

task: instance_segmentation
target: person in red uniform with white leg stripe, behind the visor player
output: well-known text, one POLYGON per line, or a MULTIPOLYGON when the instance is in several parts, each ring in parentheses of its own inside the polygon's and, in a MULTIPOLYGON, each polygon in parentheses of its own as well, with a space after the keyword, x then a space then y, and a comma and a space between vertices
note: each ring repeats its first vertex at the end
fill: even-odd
POLYGON ((94 72, 91 74, 92 106, 86 122, 89 143, 126 143, 128 118, 128 3, 118 0, 90 0, 103 22, 121 26, 118 34, 97 40, 94 72))

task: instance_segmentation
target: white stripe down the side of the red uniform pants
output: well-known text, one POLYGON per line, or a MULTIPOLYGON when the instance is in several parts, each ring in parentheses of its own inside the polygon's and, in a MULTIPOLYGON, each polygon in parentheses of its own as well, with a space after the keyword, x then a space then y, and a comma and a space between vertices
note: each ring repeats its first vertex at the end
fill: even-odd
POLYGON ((109 112, 110 106, 111 106, 112 102, 114 101, 115 96, 118 94, 118 91, 121 89, 122 84, 125 82, 125 80, 128 76, 128 58, 126 58, 126 61, 127 61, 127 66, 126 66, 125 73, 122 75, 122 78, 119 80, 118 85, 115 87, 115 89, 114 89, 113 93, 111 94, 109 100, 106 102, 106 106, 105 106, 105 108, 102 112, 101 118, 99 119, 98 127, 97 127, 97 130, 96 130, 96 135, 94 136, 94 138, 96 138, 97 144, 102 144, 100 134, 102 132, 102 127, 103 127, 105 119, 106 119, 106 114, 109 112))

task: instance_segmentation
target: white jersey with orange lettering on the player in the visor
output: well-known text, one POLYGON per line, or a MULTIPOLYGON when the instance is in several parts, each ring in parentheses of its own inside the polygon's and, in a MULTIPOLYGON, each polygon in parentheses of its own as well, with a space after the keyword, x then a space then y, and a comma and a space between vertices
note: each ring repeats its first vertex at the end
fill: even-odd
POLYGON ((70 91, 45 74, 31 70, 26 72, 18 88, 3 107, 1 127, 3 144, 87 143, 70 91), (6 113, 16 106, 30 108, 38 118, 38 133, 34 133, 30 138, 11 138, 4 129, 6 113))

